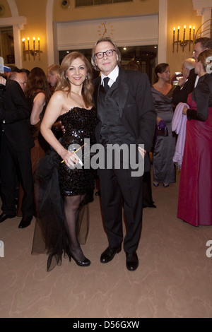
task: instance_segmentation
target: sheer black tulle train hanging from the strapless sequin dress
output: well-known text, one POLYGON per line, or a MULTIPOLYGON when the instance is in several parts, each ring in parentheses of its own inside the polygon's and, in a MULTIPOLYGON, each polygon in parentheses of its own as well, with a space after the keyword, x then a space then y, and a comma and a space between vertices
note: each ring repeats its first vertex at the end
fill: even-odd
MULTIPOLYGON (((61 265, 69 255, 68 235, 65 227, 64 196, 59 186, 59 155, 51 150, 40 158, 35 170, 35 208, 37 211, 32 254, 46 253, 47 271, 61 265)), ((86 192, 77 219, 77 236, 85 244, 89 229, 88 203, 93 201, 93 188, 86 192)))

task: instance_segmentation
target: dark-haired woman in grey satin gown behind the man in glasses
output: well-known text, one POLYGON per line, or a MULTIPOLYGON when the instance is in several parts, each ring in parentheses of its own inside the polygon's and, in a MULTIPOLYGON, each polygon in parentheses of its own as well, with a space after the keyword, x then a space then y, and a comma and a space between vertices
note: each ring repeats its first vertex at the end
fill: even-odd
POLYGON ((153 102, 157 112, 158 129, 155 133, 153 148, 153 184, 164 187, 176 182, 175 164, 172 160, 175 155, 176 137, 172 133, 172 94, 175 86, 170 82, 170 67, 168 64, 158 64, 155 67, 158 81, 152 86, 153 102), (160 131, 164 136, 160 136, 160 131))

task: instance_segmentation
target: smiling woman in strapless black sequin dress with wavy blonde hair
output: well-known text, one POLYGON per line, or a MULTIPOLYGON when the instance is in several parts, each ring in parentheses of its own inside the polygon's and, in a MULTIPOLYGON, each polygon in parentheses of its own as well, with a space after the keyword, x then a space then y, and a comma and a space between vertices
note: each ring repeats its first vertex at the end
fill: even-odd
MULTIPOLYGON (((78 241, 80 227, 78 217, 81 214, 81 208, 93 200, 95 172, 91 167, 87 169, 87 167, 79 166, 81 160, 74 153, 73 144, 77 145, 77 149, 84 145, 87 138, 90 139, 90 146, 95 143, 94 130, 98 118, 92 103, 91 78, 92 70, 86 57, 79 52, 68 54, 61 63, 57 88, 49 100, 40 127, 42 136, 53 149, 50 158, 42 158, 42 164, 38 166, 37 172, 37 177, 40 179, 38 180, 39 194, 45 191, 45 194, 41 195, 52 199, 50 204, 46 204, 46 201, 45 204, 40 202, 40 208, 38 208, 40 230, 42 237, 45 238, 45 251, 49 254, 47 271, 56 263, 57 265, 61 263, 63 254, 67 254, 70 260, 73 258, 78 266, 90 265, 90 260, 84 256, 78 241), (55 121, 61 121, 65 129, 60 142, 52 133, 52 125, 55 121), (70 146, 72 146, 72 152, 70 146), (51 165, 56 166, 53 167, 53 171, 51 171, 51 165), (48 167, 51 174, 57 169, 54 181, 59 180, 61 199, 59 193, 54 195, 55 190, 52 189, 52 187, 55 188, 54 181, 49 182, 49 173, 43 171, 48 167), (47 194, 49 183, 49 194, 47 194), (48 211, 44 206, 48 207, 48 211), (58 208, 59 206, 61 208, 58 208)), ((84 147, 80 148, 82 155, 84 147)), ((35 251, 36 249, 33 250, 34 253, 35 251)))

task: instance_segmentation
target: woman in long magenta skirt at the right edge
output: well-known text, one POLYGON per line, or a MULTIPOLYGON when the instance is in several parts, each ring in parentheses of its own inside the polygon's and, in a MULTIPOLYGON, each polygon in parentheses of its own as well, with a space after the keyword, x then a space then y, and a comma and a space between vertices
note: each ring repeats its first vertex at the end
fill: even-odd
POLYGON ((199 80, 187 100, 186 139, 179 182, 177 217, 193 226, 212 225, 212 50, 199 54, 199 80), (207 67, 208 72, 207 73, 207 67))

